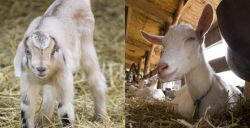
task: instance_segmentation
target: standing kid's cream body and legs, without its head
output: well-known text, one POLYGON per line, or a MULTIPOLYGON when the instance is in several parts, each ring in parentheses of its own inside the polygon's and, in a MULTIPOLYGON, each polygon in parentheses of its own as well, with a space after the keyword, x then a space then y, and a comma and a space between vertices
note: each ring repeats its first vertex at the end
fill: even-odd
POLYGON ((82 69, 87 76, 87 82, 94 97, 95 118, 97 120, 106 118, 106 84, 93 43, 94 16, 90 1, 56 0, 43 16, 37 17, 31 22, 25 36, 28 37, 35 31, 47 33, 55 38, 60 46, 58 54, 61 52, 63 58, 61 57, 60 60, 55 62, 56 67, 53 67, 48 77, 44 79, 34 76, 26 66, 27 60, 22 60, 24 69, 21 75, 22 99, 28 97, 29 102, 32 100, 31 103, 33 104, 21 103, 22 111, 25 111, 24 115, 28 117, 27 124, 24 124, 24 126, 33 127, 34 99, 44 85, 51 87, 44 87, 43 106, 47 116, 50 117, 53 114, 55 97, 57 96, 60 118, 69 118, 69 121, 73 122, 73 72, 78 69, 82 69), (52 93, 51 89, 55 90, 53 92, 56 92, 57 95, 49 95, 49 93, 52 93), (34 92, 30 94, 30 90, 34 90, 34 92), (28 109, 32 109, 31 112, 27 112, 28 109))

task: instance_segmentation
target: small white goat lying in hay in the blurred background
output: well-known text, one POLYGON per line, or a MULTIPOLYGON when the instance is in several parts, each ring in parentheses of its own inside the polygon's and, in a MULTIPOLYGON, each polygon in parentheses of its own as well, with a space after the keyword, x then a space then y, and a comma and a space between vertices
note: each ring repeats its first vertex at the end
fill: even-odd
MULTIPOLYGON (((146 81, 146 80, 143 80, 146 81)), ((152 98, 156 100, 165 100, 165 95, 161 89, 157 89, 157 76, 148 79, 149 87, 146 85, 139 85, 139 88, 134 85, 129 86, 129 91, 136 97, 152 98)))

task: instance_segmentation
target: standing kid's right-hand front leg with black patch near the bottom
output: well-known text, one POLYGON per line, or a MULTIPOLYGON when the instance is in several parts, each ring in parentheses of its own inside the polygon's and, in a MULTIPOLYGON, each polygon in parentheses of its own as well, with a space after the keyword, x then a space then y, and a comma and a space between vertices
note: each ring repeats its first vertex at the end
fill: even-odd
POLYGON ((58 94, 58 115, 63 127, 73 125, 74 115, 74 86, 73 75, 69 71, 65 71, 57 79, 57 94, 58 94))

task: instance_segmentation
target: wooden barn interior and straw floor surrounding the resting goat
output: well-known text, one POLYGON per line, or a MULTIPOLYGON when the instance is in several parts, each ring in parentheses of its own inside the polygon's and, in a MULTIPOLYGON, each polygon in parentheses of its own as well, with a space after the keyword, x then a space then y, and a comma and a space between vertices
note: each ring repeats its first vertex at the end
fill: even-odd
MULTIPOLYGON (((140 79, 148 79, 157 74, 162 47, 147 42, 142 37, 141 30, 154 35, 165 35, 171 25, 181 22, 188 23, 196 28, 205 5, 210 4, 216 10, 220 2, 221 0, 126 0, 126 85, 140 84, 140 79)), ((216 15, 215 11, 214 15, 216 15)), ((206 61, 227 83, 239 87, 249 84, 229 69, 226 62, 226 50, 227 44, 220 36, 217 19, 214 16, 213 24, 205 38, 204 55, 206 61)), ((162 88, 162 84, 158 82, 157 88, 165 89, 162 88)), ((177 82, 170 82, 168 85, 183 86, 184 84, 185 82, 182 79, 177 82)), ((126 98, 125 111, 126 126, 128 127, 233 127, 239 123, 235 123, 234 119, 242 119, 241 116, 244 114, 241 112, 248 112, 241 106, 240 109, 236 110, 237 116, 231 116, 234 119, 228 117, 228 112, 221 111, 220 114, 224 114, 223 116, 218 114, 212 118, 204 117, 197 122, 190 123, 185 120, 178 120, 178 115, 166 111, 166 103, 127 97, 129 98, 126 98)), ((248 106, 249 104, 244 105, 248 106)), ((241 121, 245 121, 244 118, 241 121)))

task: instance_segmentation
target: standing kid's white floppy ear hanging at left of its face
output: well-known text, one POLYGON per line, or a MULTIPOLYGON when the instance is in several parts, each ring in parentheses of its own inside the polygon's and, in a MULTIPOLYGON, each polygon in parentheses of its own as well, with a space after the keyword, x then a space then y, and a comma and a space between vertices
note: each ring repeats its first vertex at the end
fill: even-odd
POLYGON ((22 60, 23 60, 23 56, 24 56, 24 41, 26 41, 27 39, 21 41, 17 47, 17 51, 16 51, 16 55, 14 58, 14 70, 15 70, 15 76, 17 77, 21 77, 22 74, 22 60))

